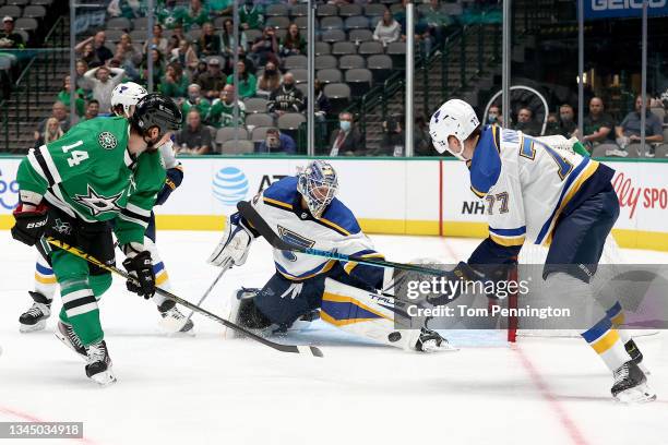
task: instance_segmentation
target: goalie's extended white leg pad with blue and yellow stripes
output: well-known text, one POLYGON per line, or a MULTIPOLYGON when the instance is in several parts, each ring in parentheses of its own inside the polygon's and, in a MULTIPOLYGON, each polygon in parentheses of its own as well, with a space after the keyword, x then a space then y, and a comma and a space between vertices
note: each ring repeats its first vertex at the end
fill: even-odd
POLYGON ((325 280, 321 314, 323 321, 350 334, 401 349, 415 349, 419 328, 405 328, 395 321, 394 299, 325 280))

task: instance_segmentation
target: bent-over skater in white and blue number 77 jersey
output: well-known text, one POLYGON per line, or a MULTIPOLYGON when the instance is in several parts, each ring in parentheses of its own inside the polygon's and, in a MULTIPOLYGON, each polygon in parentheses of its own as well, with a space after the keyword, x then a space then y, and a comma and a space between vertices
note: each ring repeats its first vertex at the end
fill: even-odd
POLYGON ((560 148, 573 145, 564 137, 530 137, 498 125, 482 127, 474 109, 458 99, 441 106, 429 131, 439 153, 448 151, 466 161, 472 191, 487 201, 489 237, 467 266, 489 275, 490 265, 516 263, 525 242, 550 245, 542 273, 549 294, 572 306, 595 298, 599 303, 581 335, 612 372, 612 396, 654 400, 639 366, 642 354, 617 329, 623 323, 619 302, 596 297, 589 286, 619 215, 610 183, 613 170, 560 148))

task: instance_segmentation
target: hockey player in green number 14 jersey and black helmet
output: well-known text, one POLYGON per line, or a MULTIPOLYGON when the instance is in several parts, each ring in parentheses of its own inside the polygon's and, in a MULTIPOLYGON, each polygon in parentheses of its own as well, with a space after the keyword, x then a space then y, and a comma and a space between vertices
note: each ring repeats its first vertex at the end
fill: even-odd
MULTIPOLYGON (((111 221, 127 255, 123 266, 135 281, 128 289, 144 298, 155 293, 151 253, 144 231, 156 195, 165 183, 157 147, 181 125, 181 112, 168 97, 150 94, 131 119, 84 121, 62 139, 32 149, 19 167, 21 203, 12 237, 27 245, 52 236, 114 264, 111 221)), ((86 358, 86 375, 99 384, 116 381, 104 340, 97 300, 111 285, 104 269, 65 251, 50 260, 63 306, 58 330, 86 358)))

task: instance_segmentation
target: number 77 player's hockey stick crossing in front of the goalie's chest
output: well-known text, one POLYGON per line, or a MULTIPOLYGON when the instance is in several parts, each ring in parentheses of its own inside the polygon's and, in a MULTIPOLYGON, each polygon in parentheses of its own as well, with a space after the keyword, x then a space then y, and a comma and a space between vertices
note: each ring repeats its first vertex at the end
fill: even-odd
POLYGON ((274 249, 297 253, 306 253, 308 255, 322 256, 330 260, 367 264, 369 266, 375 267, 389 267, 402 270, 413 270, 421 274, 429 274, 436 276, 448 276, 448 273, 445 270, 434 269, 431 267, 422 267, 416 264, 394 263, 384 260, 361 258, 359 256, 346 255, 338 252, 329 252, 319 249, 302 248, 300 245, 293 244, 289 241, 285 241, 281 237, 278 237, 278 234, 276 234, 276 232, 270 227, 270 225, 264 220, 264 218, 260 216, 258 211, 255 211, 249 202, 240 201, 237 204, 237 209, 239 209, 241 216, 243 216, 274 249))

